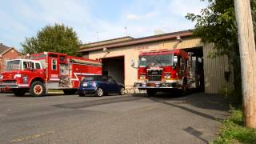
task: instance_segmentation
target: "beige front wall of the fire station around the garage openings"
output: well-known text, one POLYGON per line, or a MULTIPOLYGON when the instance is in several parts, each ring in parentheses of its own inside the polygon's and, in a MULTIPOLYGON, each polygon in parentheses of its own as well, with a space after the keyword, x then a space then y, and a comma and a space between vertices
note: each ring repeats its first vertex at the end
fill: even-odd
MULTIPOLYGON (((200 38, 182 38, 182 42, 176 40, 168 40, 161 42, 144 43, 134 46, 124 46, 122 48, 109 49, 109 53, 103 50, 95 50, 89 52, 89 58, 111 58, 116 56, 125 56, 125 85, 133 86, 134 82, 137 81, 137 69, 130 66, 130 61, 134 59, 134 62, 138 64, 138 54, 140 51, 148 50, 161 50, 161 49, 185 49, 204 46, 200 38)), ((224 85, 230 85, 223 81, 224 68, 218 69, 218 65, 222 65, 219 62, 227 62, 226 58, 215 58, 210 59, 206 57, 206 53, 211 49, 211 46, 204 46, 204 70, 205 70, 205 81, 206 81, 206 93, 218 93, 218 89, 224 85), (220 59, 220 60, 219 60, 220 59), (215 67, 214 67, 215 66, 215 67), (218 77, 215 77, 218 76, 218 77), (219 79, 217 81, 216 79, 219 79), (215 86, 218 85, 218 86, 215 86)), ((226 63, 225 65, 226 66, 226 63)))

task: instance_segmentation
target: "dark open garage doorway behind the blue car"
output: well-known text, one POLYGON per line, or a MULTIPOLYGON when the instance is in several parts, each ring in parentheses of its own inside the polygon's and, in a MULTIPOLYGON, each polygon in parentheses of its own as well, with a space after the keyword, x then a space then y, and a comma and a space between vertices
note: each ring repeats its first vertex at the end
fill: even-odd
POLYGON ((125 82, 124 56, 102 58, 102 74, 113 77, 118 83, 125 82))

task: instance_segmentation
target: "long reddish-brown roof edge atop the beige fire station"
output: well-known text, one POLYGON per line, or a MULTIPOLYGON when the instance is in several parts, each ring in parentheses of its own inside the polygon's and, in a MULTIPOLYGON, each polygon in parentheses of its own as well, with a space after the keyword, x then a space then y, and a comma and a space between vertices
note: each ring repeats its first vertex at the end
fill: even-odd
MULTIPOLYGON (((81 46, 81 49, 79 50, 79 52, 101 50, 103 48, 108 48, 108 49, 118 48, 121 46, 131 46, 131 45, 142 44, 142 43, 146 43, 146 42, 158 42, 158 41, 162 41, 162 40, 176 39, 178 36, 180 38, 191 37, 192 30, 182 30, 182 31, 174 32, 174 33, 158 34, 158 35, 144 37, 144 38, 130 38, 130 39, 122 40, 122 41, 118 41, 118 42, 110 41, 108 43, 103 43, 103 44, 101 42, 98 42, 98 45, 87 44, 87 46, 86 45, 81 46)), ((118 38, 116 38, 116 39, 118 39, 118 38)))

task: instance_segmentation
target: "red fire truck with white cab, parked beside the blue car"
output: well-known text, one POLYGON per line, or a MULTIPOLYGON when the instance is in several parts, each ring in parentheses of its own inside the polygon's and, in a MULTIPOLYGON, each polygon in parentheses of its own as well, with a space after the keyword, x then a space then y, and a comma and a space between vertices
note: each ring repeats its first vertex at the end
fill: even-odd
POLYGON ((97 60, 44 52, 7 61, 6 70, 0 74, 0 88, 17 96, 26 92, 43 96, 48 90, 74 94, 82 77, 101 74, 102 63, 97 60))

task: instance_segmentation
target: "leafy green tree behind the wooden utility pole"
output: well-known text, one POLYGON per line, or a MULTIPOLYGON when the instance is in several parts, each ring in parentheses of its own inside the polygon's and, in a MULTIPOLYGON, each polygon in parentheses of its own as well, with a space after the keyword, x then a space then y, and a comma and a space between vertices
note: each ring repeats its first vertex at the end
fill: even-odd
MULTIPOLYGON (((202 0, 204 1, 204 0, 202 0)), ((196 22, 193 34, 202 38, 202 42, 214 43, 214 58, 226 54, 234 67, 234 90, 242 96, 241 67, 238 46, 238 28, 234 13, 233 0, 208 0, 209 6, 201 10, 201 15, 187 14, 186 18, 196 22)), ((256 30, 256 0, 251 0, 254 14, 254 32, 256 30)), ((242 97, 241 97, 242 98, 242 97)))

